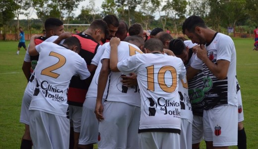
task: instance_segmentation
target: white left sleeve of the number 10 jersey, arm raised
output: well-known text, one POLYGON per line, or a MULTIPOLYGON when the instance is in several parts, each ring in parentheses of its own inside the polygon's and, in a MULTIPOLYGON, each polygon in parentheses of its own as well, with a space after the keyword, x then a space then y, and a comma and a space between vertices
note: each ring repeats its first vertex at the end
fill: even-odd
POLYGON ((123 60, 122 62, 119 62, 117 67, 120 72, 123 72, 124 74, 130 74, 133 72, 136 72, 137 66, 136 66, 136 59, 137 55, 133 55, 126 60, 123 60))

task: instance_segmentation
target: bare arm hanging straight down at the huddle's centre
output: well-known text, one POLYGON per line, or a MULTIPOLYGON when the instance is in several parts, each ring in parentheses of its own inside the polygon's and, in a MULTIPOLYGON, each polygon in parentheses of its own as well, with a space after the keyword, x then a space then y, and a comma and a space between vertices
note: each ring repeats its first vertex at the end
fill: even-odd
POLYGON ((97 102, 95 107, 95 114, 98 121, 101 121, 104 119, 102 98, 107 85, 108 74, 109 74, 109 59, 104 59, 99 73, 97 99, 96 99, 97 102))

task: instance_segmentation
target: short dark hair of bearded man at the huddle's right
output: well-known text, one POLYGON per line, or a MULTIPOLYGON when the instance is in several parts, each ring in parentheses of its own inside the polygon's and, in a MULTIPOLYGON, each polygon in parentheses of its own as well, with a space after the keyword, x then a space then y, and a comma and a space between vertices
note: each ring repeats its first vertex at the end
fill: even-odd
POLYGON ((203 19, 199 16, 192 15, 189 16, 183 23, 182 32, 185 34, 185 31, 193 33, 196 26, 207 28, 206 24, 204 23, 203 19))

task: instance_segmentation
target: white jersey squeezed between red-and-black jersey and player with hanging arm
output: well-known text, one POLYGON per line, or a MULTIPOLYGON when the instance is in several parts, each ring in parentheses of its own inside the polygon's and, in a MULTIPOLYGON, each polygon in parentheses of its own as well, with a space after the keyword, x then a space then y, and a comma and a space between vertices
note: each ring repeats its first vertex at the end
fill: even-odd
MULTIPOLYGON (((97 88, 98 88, 98 81, 99 81, 99 73, 100 73, 100 70, 101 70, 101 67, 102 67, 102 64, 101 64, 101 56, 103 55, 104 53, 104 50, 105 50, 105 47, 109 45, 109 42, 108 43, 105 43, 104 45, 102 46, 99 46, 98 48, 98 51, 96 53, 96 55, 94 56, 94 58, 91 60, 91 64, 97 66, 97 69, 95 71, 95 74, 92 78, 92 81, 90 83, 90 86, 88 88, 88 91, 87 91, 87 94, 86 94, 86 98, 87 97, 97 97, 97 88)), ((108 85, 107 85, 108 86, 108 85)), ((103 94, 103 98, 105 98, 107 96, 107 86, 105 88, 105 91, 104 91, 104 94, 103 94)))

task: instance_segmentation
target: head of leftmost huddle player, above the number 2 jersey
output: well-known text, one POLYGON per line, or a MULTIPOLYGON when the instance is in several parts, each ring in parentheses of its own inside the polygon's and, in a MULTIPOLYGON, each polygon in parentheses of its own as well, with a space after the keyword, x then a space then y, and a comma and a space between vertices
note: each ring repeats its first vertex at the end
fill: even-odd
POLYGON ((54 35, 61 35, 62 33, 65 32, 64 30, 64 23, 57 18, 48 18, 45 21, 45 29, 46 29, 46 37, 51 37, 54 35))

